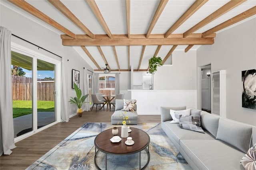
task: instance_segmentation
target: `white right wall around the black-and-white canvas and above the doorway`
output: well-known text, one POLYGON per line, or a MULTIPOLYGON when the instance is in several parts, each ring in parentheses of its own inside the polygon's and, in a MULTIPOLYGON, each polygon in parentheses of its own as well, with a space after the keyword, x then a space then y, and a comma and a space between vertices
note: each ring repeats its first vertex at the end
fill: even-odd
POLYGON ((256 18, 217 33, 197 50, 197 66, 226 70, 227 118, 256 125, 256 110, 242 107, 242 71, 256 69, 256 18))

